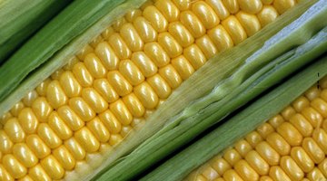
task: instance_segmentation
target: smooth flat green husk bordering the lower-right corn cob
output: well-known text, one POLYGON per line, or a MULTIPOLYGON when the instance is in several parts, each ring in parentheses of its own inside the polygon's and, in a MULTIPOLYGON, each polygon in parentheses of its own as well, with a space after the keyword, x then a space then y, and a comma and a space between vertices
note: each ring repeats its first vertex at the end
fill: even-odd
POLYGON ((223 125, 164 162, 141 180, 183 179, 194 168, 201 166, 221 153, 224 148, 231 146, 264 121, 272 118, 325 75, 327 75, 326 55, 261 99, 254 101, 232 119, 226 120, 223 125))

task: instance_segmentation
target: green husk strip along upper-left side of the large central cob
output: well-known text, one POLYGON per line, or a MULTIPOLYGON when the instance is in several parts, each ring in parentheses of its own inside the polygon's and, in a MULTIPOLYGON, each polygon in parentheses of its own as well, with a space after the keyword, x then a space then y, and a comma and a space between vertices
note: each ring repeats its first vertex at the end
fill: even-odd
POLYGON ((123 3, 124 0, 78 0, 67 6, 0 68, 0 101, 15 90, 31 71, 123 3))

